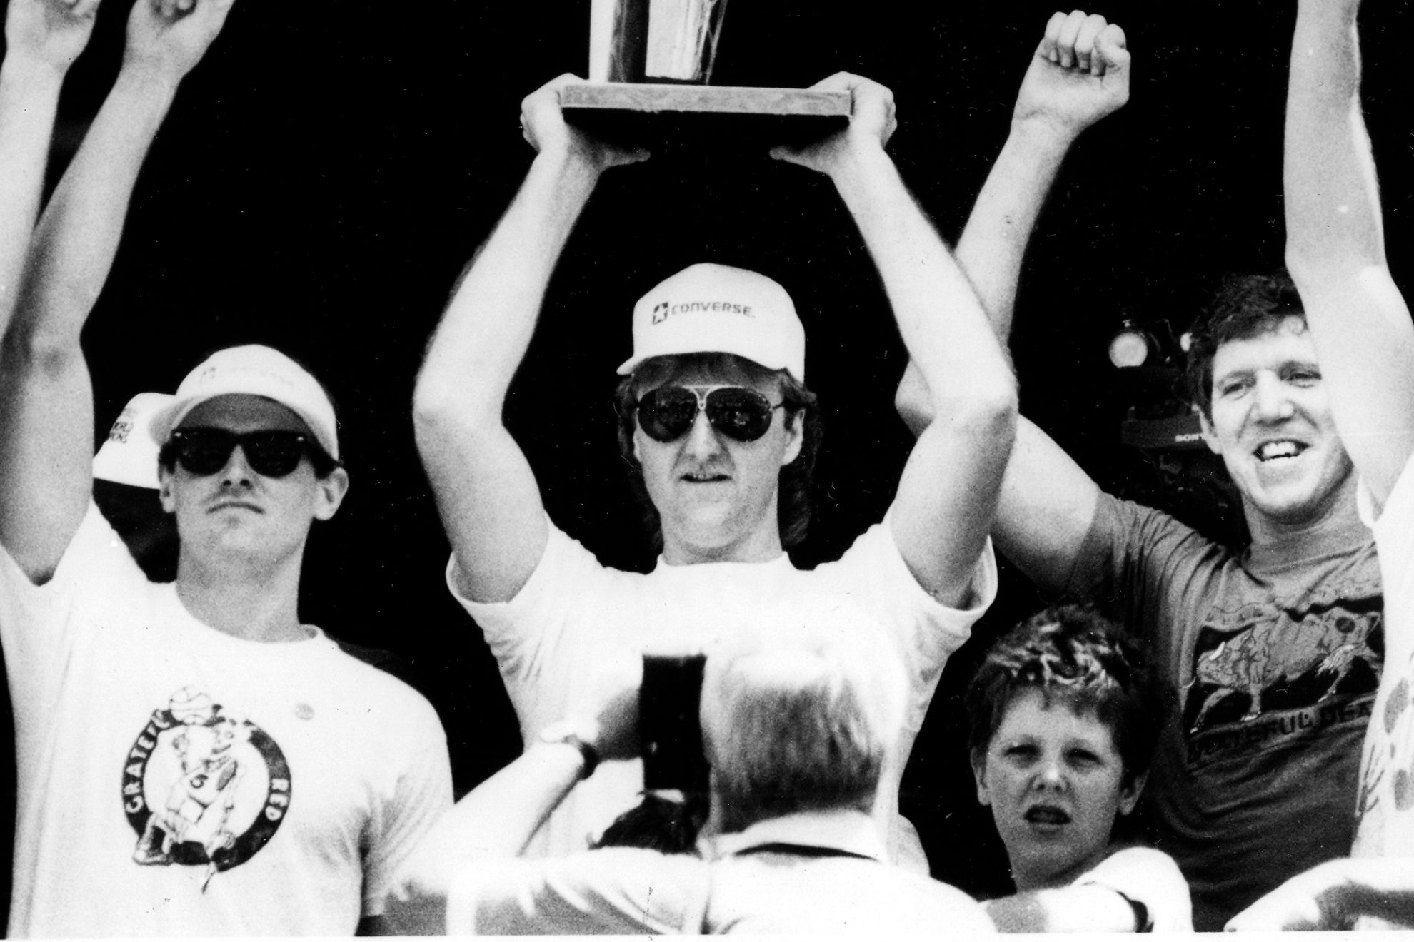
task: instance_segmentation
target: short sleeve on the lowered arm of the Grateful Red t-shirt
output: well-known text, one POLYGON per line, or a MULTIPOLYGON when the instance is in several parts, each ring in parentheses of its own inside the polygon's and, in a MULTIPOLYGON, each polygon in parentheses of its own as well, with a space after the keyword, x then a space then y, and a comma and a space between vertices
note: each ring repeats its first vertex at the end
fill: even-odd
POLYGON ((423 836, 451 808, 451 761, 447 737, 431 705, 417 698, 423 716, 409 737, 423 743, 397 777, 395 794, 373 822, 363 866, 363 915, 379 915, 395 876, 423 836))

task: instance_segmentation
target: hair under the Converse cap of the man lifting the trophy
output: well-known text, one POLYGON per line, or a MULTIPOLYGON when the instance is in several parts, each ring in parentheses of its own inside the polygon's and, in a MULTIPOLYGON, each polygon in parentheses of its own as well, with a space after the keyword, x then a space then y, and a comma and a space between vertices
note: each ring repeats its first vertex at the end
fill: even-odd
POLYGON ((658 356, 639 364, 633 376, 624 377, 614 391, 614 411, 618 412, 619 455, 629 469, 629 484, 643 510, 643 528, 652 535, 655 549, 663 547, 663 525, 658 508, 649 500, 643 484, 642 469, 633 458, 633 432, 638 429, 638 390, 655 380, 687 366, 723 369, 735 364, 747 370, 754 380, 766 381, 776 377, 781 383, 781 397, 786 421, 803 421, 800 453, 781 469, 781 496, 776 503, 776 517, 781 527, 781 545, 789 549, 799 545, 810 527, 810 479, 814 476, 814 460, 820 453, 820 436, 824 424, 820 419, 819 398, 803 383, 786 370, 768 370, 745 357, 731 353, 684 353, 658 356), (796 417, 800 417, 799 419, 796 417))

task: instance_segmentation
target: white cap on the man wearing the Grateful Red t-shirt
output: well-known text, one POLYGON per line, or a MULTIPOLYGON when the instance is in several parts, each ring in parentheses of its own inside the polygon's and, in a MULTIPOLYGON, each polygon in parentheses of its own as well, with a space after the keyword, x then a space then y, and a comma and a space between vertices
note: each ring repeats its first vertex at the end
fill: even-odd
POLYGON ((188 412, 206 400, 232 394, 263 395, 284 405, 304 421, 329 458, 338 460, 338 421, 324 387, 284 353, 259 343, 216 350, 188 373, 174 401, 153 418, 153 439, 164 445, 188 412))

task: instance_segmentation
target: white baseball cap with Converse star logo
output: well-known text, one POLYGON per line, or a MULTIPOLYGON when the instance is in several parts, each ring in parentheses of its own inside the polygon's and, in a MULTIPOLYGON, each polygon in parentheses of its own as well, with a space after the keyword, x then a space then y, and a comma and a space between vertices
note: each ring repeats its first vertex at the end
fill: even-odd
POLYGON ((790 295, 745 268, 696 264, 633 305, 633 356, 619 374, 674 353, 735 353, 805 383, 805 326, 790 295))

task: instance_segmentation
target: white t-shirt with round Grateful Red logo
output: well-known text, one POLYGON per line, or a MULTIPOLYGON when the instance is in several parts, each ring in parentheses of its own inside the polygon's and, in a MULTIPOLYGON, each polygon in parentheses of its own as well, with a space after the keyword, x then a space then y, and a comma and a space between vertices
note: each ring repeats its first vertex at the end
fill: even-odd
POLYGON ((54 579, 0 551, 11 935, 351 935, 451 805, 431 705, 346 654, 243 641, 89 506, 54 579))

